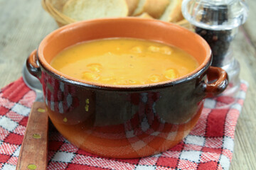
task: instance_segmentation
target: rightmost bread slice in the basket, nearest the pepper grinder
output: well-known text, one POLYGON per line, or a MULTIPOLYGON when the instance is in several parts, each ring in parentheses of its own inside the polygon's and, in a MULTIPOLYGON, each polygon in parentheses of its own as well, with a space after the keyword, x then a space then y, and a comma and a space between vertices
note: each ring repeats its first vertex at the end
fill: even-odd
POLYGON ((182 0, 169 0, 169 6, 167 6, 163 15, 159 18, 161 21, 176 23, 183 19, 181 12, 182 0))

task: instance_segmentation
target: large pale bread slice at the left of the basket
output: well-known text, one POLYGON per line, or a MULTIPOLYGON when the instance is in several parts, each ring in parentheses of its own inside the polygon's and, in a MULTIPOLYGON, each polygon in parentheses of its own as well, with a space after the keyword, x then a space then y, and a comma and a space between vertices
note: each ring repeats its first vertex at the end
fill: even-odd
POLYGON ((128 15, 128 6, 125 0, 68 0, 63 13, 76 21, 124 17, 128 15))

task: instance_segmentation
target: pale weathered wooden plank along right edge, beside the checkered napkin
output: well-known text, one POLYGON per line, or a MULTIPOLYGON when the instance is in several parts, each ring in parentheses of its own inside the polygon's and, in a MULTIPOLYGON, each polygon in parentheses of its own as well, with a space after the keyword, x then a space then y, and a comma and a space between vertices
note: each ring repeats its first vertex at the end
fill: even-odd
POLYGON ((235 130, 231 170, 256 169, 256 53, 245 34, 244 28, 240 28, 233 44, 234 56, 240 62, 240 79, 247 81, 250 86, 235 130))

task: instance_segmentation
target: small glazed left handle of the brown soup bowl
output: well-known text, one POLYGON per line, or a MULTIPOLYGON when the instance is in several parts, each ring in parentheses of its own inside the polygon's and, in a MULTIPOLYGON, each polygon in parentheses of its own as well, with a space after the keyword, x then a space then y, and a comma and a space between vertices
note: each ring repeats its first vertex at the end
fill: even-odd
POLYGON ((41 68, 38 64, 37 50, 33 50, 26 60, 26 67, 34 77, 41 78, 41 68))

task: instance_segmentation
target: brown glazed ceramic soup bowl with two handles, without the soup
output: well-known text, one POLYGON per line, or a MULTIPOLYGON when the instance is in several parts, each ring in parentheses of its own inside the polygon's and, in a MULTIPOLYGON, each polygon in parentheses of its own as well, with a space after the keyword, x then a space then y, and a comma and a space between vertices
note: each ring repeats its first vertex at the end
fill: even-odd
POLYGON ((181 142, 196 125, 203 99, 225 90, 226 72, 210 62, 207 42, 190 30, 156 20, 105 18, 53 31, 28 57, 27 67, 41 81, 50 120, 67 140, 92 154, 136 158, 181 142), (75 79, 50 66, 66 47, 101 38, 174 45, 195 57, 199 67, 172 81, 115 86, 75 79))

